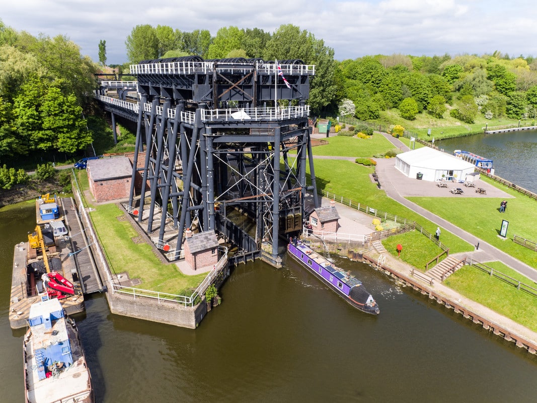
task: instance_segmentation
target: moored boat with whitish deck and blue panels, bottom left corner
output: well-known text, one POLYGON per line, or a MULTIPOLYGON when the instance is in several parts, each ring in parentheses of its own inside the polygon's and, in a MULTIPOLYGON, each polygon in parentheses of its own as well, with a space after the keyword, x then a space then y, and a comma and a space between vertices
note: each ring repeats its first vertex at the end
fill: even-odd
POLYGON ((26 402, 95 401, 78 329, 60 301, 33 304, 28 324, 23 342, 26 402))

